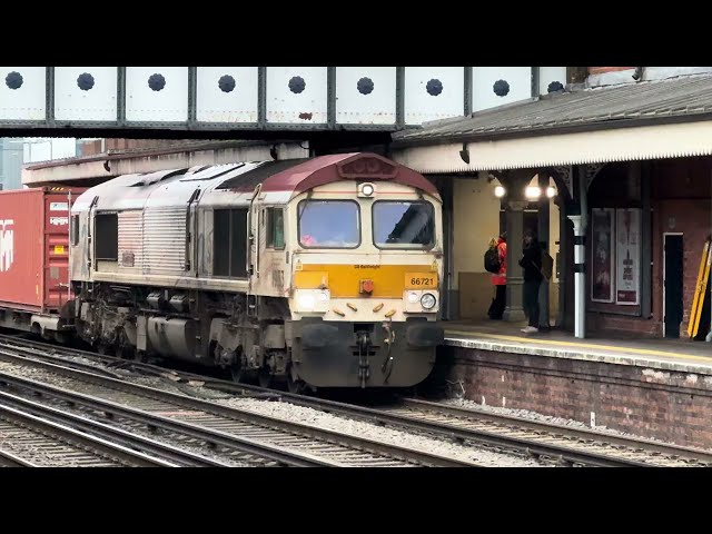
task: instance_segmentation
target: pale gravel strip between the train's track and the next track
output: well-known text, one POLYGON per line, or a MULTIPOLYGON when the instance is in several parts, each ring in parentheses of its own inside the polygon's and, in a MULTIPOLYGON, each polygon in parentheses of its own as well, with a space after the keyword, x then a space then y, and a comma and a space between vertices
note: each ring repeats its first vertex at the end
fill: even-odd
MULTIPOLYGON (((83 358, 82 358, 83 359, 83 358)), ((0 370, 17 374, 27 378, 36 379, 46 384, 67 387, 73 383, 70 378, 58 376, 44 369, 22 366, 13 363, 0 362, 0 370)), ((412 434, 404 431, 384 428, 375 424, 348 419, 333 414, 327 414, 318 409, 297 406, 288 402, 274 402, 254 398, 239 398, 229 394, 222 394, 204 387, 191 387, 187 385, 176 385, 168 379, 159 377, 136 376, 122 369, 113 369, 126 376, 128 382, 145 386, 156 387, 172 393, 194 393, 198 398, 210 399, 212 402, 240 409, 248 409, 256 414, 269 415, 286 421, 294 421, 308 425, 318 426, 324 429, 344 432, 383 443, 404 445, 417 448, 422 452, 441 454, 458 459, 469 459, 481 465, 493 467, 541 467, 542 464, 514 454, 498 453, 476 446, 464 446, 449 443, 445 439, 437 439, 424 435, 412 434), (178 387, 179 386, 179 387, 178 387), (188 392, 188 390, 189 392, 188 392)))

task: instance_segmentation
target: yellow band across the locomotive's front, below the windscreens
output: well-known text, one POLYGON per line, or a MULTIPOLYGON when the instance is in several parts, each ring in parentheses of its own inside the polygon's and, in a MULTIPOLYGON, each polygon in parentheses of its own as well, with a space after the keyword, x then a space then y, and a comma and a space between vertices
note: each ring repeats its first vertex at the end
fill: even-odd
MULTIPOLYGON (((373 280, 374 298, 403 298, 406 280, 417 277, 428 280, 427 286, 418 289, 437 287, 437 265, 309 265, 303 264, 301 270, 295 271, 295 288, 304 289, 306 280, 320 279, 326 273, 332 298, 357 298, 368 295, 359 294, 360 280, 373 280), (314 276, 314 279, 309 278, 314 276)), ((310 286, 316 288, 318 286, 310 286)))

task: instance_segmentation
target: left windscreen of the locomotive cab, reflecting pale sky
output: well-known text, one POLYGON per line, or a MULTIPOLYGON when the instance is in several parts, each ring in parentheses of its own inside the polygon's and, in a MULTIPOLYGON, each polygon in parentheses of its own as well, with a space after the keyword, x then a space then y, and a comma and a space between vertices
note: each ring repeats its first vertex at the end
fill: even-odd
POLYGON ((360 245, 358 204, 353 200, 301 200, 297 216, 299 245, 305 248, 360 245))

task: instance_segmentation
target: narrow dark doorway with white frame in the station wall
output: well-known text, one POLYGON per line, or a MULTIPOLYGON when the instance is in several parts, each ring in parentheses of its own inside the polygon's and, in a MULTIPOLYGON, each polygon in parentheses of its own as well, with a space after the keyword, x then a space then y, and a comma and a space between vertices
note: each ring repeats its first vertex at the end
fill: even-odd
POLYGON ((683 239, 682 234, 665 234, 663 270, 663 328, 665 337, 680 337, 682 323, 682 275, 683 239))

